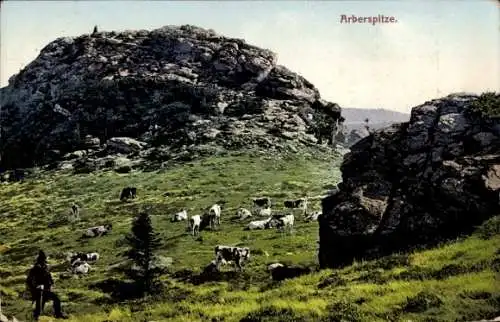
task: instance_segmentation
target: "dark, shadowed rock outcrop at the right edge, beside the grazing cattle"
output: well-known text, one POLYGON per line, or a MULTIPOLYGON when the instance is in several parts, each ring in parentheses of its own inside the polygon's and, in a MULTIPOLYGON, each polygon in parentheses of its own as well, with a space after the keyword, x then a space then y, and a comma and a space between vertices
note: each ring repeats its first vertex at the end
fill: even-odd
POLYGON ((500 213, 500 118, 477 112, 483 97, 426 102, 351 147, 322 202, 321 266, 455 237, 500 213))

